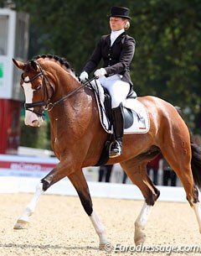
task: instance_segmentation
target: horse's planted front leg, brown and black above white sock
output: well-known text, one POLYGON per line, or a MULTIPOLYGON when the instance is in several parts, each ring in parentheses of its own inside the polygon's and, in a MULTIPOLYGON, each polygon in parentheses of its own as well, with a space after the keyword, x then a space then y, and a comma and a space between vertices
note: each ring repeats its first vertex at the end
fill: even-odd
POLYGON ((85 176, 83 175, 82 170, 70 175, 69 179, 71 183, 75 186, 75 190, 80 197, 81 204, 84 207, 87 215, 90 217, 90 221, 95 228, 95 232, 99 236, 99 247, 105 248, 105 245, 107 243, 106 229, 93 210, 89 187, 86 183, 85 176))

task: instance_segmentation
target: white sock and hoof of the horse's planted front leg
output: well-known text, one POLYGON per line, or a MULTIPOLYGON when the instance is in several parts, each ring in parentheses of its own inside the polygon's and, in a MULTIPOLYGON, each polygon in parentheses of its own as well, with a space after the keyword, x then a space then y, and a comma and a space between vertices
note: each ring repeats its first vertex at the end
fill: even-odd
POLYGON ((90 216, 90 221, 92 222, 92 224, 93 224, 93 226, 95 228, 95 232, 99 236, 100 247, 105 245, 107 243, 106 229, 105 229, 105 227, 101 223, 99 217, 97 217, 97 215, 95 214, 94 211, 92 212, 92 214, 90 216))

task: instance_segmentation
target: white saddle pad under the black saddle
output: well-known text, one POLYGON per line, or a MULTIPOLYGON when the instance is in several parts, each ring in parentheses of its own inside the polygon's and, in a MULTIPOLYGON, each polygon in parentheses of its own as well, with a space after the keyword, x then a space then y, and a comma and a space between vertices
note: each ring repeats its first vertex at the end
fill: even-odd
MULTIPOLYGON (((95 88, 95 91, 97 87, 95 88)), ((99 116, 102 127, 105 129, 107 133, 113 133, 112 128, 110 129, 110 121, 106 117, 106 110, 104 106, 104 91, 102 86, 98 86, 98 92, 95 93, 96 102, 99 108, 99 116), (98 96, 99 95, 99 96, 98 96), (101 106, 100 106, 101 104, 101 106)), ((130 98, 126 99, 123 103, 123 107, 126 107, 131 110, 133 116, 133 123, 129 128, 124 129, 124 134, 132 134, 132 133, 147 133, 150 128, 149 116, 147 113, 147 108, 142 105, 136 99, 130 98)))

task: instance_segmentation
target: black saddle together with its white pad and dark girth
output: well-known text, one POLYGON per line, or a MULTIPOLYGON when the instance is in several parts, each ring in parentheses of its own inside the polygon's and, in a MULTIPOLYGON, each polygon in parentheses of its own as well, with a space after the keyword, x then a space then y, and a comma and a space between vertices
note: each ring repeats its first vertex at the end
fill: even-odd
MULTIPOLYGON (((113 128, 111 118, 111 96, 105 87, 100 83, 90 83, 90 88, 95 92, 95 100, 99 109, 99 117, 102 128, 108 133, 108 139, 101 158, 95 166, 105 165, 109 159, 109 147, 113 141, 113 128)), ((137 100, 137 94, 131 90, 126 97, 126 101, 122 102, 124 110, 124 134, 147 133, 150 128, 147 108, 137 100)))

